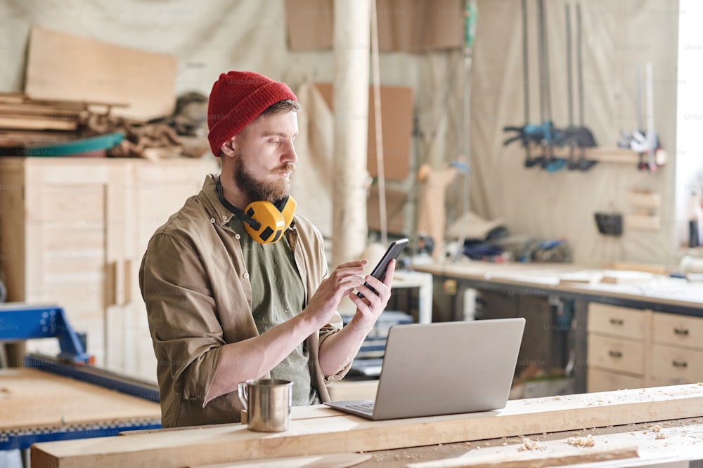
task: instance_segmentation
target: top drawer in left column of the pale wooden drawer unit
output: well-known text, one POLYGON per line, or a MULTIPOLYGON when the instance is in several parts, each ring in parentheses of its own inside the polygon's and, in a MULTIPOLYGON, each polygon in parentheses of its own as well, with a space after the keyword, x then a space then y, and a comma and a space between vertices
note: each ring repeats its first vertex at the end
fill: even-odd
POLYGON ((651 312, 647 310, 592 302, 588 305, 588 331, 644 340, 647 336, 650 315, 651 312))

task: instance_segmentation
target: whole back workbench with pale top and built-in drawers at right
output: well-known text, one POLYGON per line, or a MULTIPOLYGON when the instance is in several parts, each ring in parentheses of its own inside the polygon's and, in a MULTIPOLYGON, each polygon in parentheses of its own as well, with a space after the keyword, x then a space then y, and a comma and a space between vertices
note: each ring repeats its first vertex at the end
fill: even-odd
MULTIPOLYGON (((703 282, 701 281, 671 278, 653 271, 648 276, 638 278, 638 273, 642 274, 643 272, 586 269, 579 265, 562 263, 500 264, 464 260, 444 265, 418 265, 415 268, 422 272, 431 273, 434 276, 435 288, 440 290, 440 293, 435 296, 444 300, 444 303, 440 304, 439 308, 435 308, 433 311, 435 316, 438 315, 437 312, 450 311, 449 319, 465 319, 464 295, 465 291, 470 289, 477 290, 482 296, 483 307, 480 311, 482 316, 479 318, 524 316, 527 319, 527 326, 523 338, 524 347, 521 349, 518 362, 537 362, 541 363, 543 368, 550 370, 566 368, 570 361, 571 375, 574 377, 572 386, 576 393, 703 380, 703 371, 699 372, 696 365, 689 366, 686 371, 687 375, 684 377, 683 372, 664 370, 662 359, 652 358, 658 362, 656 373, 654 373, 653 366, 655 364, 646 357, 647 352, 654 352, 654 349, 657 350, 659 358, 661 358, 663 350, 669 351, 669 348, 659 346, 662 345, 663 333, 668 333, 661 325, 659 325, 659 334, 654 336, 654 330, 657 328, 654 323, 661 324, 662 321, 670 323, 674 321, 683 323, 685 321, 693 327, 686 342, 683 343, 681 340, 681 346, 692 349, 691 353, 695 354, 699 351, 699 347, 703 346, 701 345, 703 343, 701 337, 697 335, 696 331, 693 331, 699 328, 700 323, 703 323, 701 319, 703 316, 703 282), (620 283, 598 281, 598 275, 617 277, 618 274, 622 274, 622 277, 627 281, 620 283), (593 281, 581 282, 586 278, 592 278, 593 281), (448 297, 441 297, 442 288, 446 288, 447 285, 452 286, 450 290, 454 290, 451 292, 453 295, 445 293, 448 297), (557 322, 559 312, 557 312, 556 305, 567 301, 570 302, 569 312, 572 313, 572 316, 557 322), (631 335, 629 337, 639 340, 636 346, 641 346, 647 351, 643 353, 645 358, 640 356, 640 360, 643 361, 639 365, 640 368, 626 367, 624 364, 616 363, 615 359, 612 361, 613 365, 626 367, 618 368, 618 370, 629 372, 643 382, 610 382, 612 377, 610 373, 607 375, 601 373, 600 377, 594 377, 592 374, 598 364, 595 366, 589 364, 593 356, 588 354, 588 342, 592 336, 595 336, 589 333, 592 325, 589 311, 597 307, 617 309, 621 312, 629 310, 635 315, 643 312, 642 336, 633 338, 634 335, 631 335), (679 316, 679 318, 673 318, 674 316, 679 316), (694 322, 695 324, 691 325, 694 322), (666 380, 661 380, 660 377, 663 377, 664 374, 666 374, 666 380), (654 380, 657 381, 654 382, 654 380)), ((659 272, 664 273, 665 269, 662 267, 659 272)), ((628 322, 628 324, 632 323, 628 322)), ((611 331, 615 333, 616 330, 611 331)), ((619 337, 616 339, 620 340, 619 337)), ((621 344, 627 344, 627 341, 618 341, 613 346, 618 347, 621 344)), ((679 346, 673 341, 667 342, 666 345, 679 346)), ((605 353, 608 352, 610 352, 610 348, 605 353)), ((631 353, 628 355, 633 356, 631 353)), ((608 359, 607 356, 606 359, 608 359)), ((671 358, 668 359, 667 365, 670 367, 671 358)), ((692 356, 687 356, 687 359, 690 363, 699 361, 692 356)), ((685 360, 683 359, 683 361, 685 360)), ((600 366, 603 365, 600 363, 600 366)), ((517 372, 520 373, 522 370, 518 366, 517 372)), ((600 373, 600 370, 596 372, 600 373)))

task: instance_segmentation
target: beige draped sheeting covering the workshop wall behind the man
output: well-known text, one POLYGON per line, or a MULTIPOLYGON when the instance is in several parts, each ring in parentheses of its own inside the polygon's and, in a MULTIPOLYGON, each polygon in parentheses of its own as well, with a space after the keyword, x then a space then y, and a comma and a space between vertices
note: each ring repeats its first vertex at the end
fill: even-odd
MULTIPOLYGON (((546 1, 553 120, 565 126, 567 91, 564 5, 546 1)), ((669 163, 656 173, 634 164, 600 163, 591 171, 548 173, 524 168, 520 145, 503 147, 509 135, 503 126, 522 125, 522 34, 520 0, 479 0, 477 36, 470 83, 470 201, 486 219, 502 218, 510 232, 541 239, 567 239, 576 262, 588 265, 614 260, 671 262, 673 246, 673 155, 676 154, 676 60, 678 1, 582 0, 586 126, 600 147, 616 146, 620 131, 636 127, 635 65, 652 62, 654 124, 669 163), (662 196, 662 227, 658 231, 625 229, 621 237, 598 233, 593 213, 627 214, 630 189, 650 189, 662 196)), ((529 0, 531 120, 539 119, 536 55, 536 1, 529 0)), ((333 80, 332 51, 288 50, 284 0, 231 2, 169 0, 8 0, 0 4, 0 90, 21 91, 25 51, 34 25, 86 36, 178 59, 176 92, 208 93, 219 73, 251 69, 286 81, 294 91, 305 83, 333 80)), ((574 25, 572 24, 572 27, 574 25)), ((60 53, 60 51, 57 51, 60 53)), ((421 163, 444 168, 460 154, 463 53, 428 47, 421 53, 382 53, 381 82, 413 88, 411 174, 421 163)), ((80 83, 76 83, 80 86, 80 83)), ((575 82, 574 82, 575 89, 575 82)), ((302 102, 305 107, 305 102, 302 102)), ((576 102, 576 115, 578 106, 576 102)), ((301 119, 307 124, 306 119, 301 119)), ((302 128, 305 137, 305 128, 302 128)), ((311 166, 316 157, 301 160, 311 166)), ((301 163, 301 170, 305 163, 301 163)), ((320 179, 323 180, 323 179, 320 179)), ((456 218, 464 178, 448 189, 448 221, 456 218)), ((415 204, 415 180, 390 185, 408 193, 415 204)), ((331 214, 314 212, 316 201, 331 199, 327 184, 299 183, 301 211, 314 218, 328 236, 331 214), (310 208, 306 208, 310 207, 310 208)), ((331 210, 325 206, 323 211, 331 210)))

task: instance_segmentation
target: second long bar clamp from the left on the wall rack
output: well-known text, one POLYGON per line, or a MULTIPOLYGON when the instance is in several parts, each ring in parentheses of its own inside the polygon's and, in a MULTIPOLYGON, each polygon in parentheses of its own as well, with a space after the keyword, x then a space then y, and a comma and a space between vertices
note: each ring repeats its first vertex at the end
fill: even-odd
POLYGON ((555 140, 560 138, 558 131, 554 128, 552 121, 552 101, 550 95, 549 79, 549 49, 547 38, 547 24, 544 11, 544 0, 537 0, 538 24, 539 24, 539 91, 540 91, 540 117, 542 121, 543 140, 542 145, 542 168, 549 172, 559 171, 564 167, 566 159, 555 158, 555 140))

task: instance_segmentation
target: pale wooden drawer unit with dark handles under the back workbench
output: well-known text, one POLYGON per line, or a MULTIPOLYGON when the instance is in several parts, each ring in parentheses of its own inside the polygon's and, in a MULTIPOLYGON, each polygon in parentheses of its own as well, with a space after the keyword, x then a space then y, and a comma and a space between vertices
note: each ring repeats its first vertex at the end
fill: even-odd
POLYGON ((703 319, 591 303, 588 392, 703 380, 703 319))

